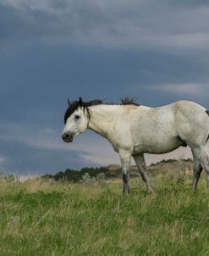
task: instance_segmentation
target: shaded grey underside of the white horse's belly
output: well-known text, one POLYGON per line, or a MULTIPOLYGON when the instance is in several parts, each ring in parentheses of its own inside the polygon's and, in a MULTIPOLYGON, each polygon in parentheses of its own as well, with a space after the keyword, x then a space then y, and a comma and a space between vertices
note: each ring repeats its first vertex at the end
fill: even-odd
POLYGON ((162 142, 159 141, 152 141, 147 143, 139 143, 136 144, 134 147, 134 154, 137 153, 168 153, 182 145, 182 141, 179 137, 174 137, 169 140, 164 140, 162 142))

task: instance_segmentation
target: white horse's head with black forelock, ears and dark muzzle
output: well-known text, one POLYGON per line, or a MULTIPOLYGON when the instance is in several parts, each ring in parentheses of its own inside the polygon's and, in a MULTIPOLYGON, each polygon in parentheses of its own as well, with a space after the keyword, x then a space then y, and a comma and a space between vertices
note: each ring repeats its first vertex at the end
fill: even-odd
POLYGON ((73 142, 74 136, 80 135, 87 129, 90 114, 85 108, 82 98, 69 102, 69 108, 64 114, 64 128, 62 138, 64 142, 73 142))

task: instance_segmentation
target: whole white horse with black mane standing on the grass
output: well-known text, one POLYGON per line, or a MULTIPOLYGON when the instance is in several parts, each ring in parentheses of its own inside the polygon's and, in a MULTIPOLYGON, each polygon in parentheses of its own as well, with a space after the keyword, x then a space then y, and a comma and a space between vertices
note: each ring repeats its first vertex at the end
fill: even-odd
POLYGON ((119 153, 124 193, 129 192, 131 157, 135 159, 148 191, 153 188, 147 179, 144 153, 168 153, 190 146, 194 159, 193 189, 201 171, 206 171, 209 181, 209 111, 196 103, 179 101, 159 108, 148 108, 126 98, 121 104, 105 104, 100 100, 69 102, 64 115, 62 138, 73 142, 87 128, 104 136, 119 153))

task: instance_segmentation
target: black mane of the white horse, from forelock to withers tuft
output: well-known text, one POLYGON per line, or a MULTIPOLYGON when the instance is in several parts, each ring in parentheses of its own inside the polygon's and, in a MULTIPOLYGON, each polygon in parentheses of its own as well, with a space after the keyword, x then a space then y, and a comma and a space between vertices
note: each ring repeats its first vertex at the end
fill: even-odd
MULTIPOLYGON (((103 103, 103 101, 101 99, 94 99, 94 100, 91 100, 89 102, 82 102, 82 106, 87 109, 88 107, 91 107, 91 106, 96 106, 96 105, 135 105, 135 106, 140 106, 140 104, 138 103, 135 103, 135 98, 134 97, 124 97, 124 98, 121 98, 121 102, 120 103, 103 103)), ((66 110, 65 114, 64 114, 64 124, 66 124, 69 116, 71 114, 74 113, 74 111, 76 109, 78 109, 80 106, 80 102, 79 101, 74 101, 72 103, 70 103, 69 105, 69 108, 66 110)))

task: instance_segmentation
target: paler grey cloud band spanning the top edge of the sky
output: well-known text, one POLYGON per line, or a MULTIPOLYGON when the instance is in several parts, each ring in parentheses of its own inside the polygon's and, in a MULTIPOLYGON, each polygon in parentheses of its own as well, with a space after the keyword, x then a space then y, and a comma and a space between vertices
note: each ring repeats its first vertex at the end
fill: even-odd
POLYGON ((9 43, 208 48, 204 1, 5 1, 0 10, 0 35, 9 43))

